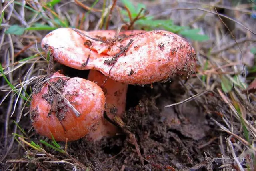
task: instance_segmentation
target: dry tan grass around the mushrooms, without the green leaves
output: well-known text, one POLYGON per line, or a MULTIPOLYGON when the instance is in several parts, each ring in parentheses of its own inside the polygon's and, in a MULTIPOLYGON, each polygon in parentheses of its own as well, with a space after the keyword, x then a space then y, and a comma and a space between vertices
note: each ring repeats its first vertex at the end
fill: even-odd
MULTIPOLYGON (((195 0, 142 2, 147 6, 148 14, 155 18, 172 19, 177 25, 199 28, 201 34, 210 37, 204 42, 190 40, 197 52, 198 68, 184 85, 191 97, 188 100, 200 104, 211 121, 219 126, 220 134, 213 141, 219 143, 220 168, 255 170, 256 95, 248 91, 242 93, 256 76, 255 72, 250 72, 256 66, 255 55, 250 52, 256 47, 256 19, 250 16, 254 5, 228 6, 222 1, 207 3, 195 0), (223 9, 226 13, 219 14, 223 9), (212 108, 211 98, 217 98, 222 105, 212 108)), ((136 4, 135 1, 133 3, 136 4)), ((1 12, 4 12, 0 33, 0 64, 3 71, 0 75, 0 162, 4 162, 3 167, 17 169, 21 163, 30 162, 41 167, 44 162, 49 165, 52 162, 67 163, 67 169, 85 168, 68 153, 66 158, 58 156, 58 153, 53 156, 44 149, 38 151, 31 148, 21 139, 17 143, 13 136, 22 135, 26 142, 31 142, 30 137, 35 134, 28 114, 30 94, 33 85, 46 76, 47 54, 42 52, 40 41, 49 30, 64 26, 97 30, 106 26, 106 20, 111 21, 107 26, 110 29, 120 29, 125 25, 118 12, 123 8, 121 2, 117 1, 114 9, 112 1, 108 0, 99 1, 95 6, 93 1, 83 4, 81 7, 66 0, 53 8, 38 0, 11 0, 0 4, 1 12), (14 24, 30 29, 24 30, 21 35, 5 33, 14 24), (42 27, 34 24, 41 24, 42 27), (22 132, 13 121, 26 131, 22 132), (26 153, 23 155, 22 152, 23 157, 17 158, 21 148, 26 153)))

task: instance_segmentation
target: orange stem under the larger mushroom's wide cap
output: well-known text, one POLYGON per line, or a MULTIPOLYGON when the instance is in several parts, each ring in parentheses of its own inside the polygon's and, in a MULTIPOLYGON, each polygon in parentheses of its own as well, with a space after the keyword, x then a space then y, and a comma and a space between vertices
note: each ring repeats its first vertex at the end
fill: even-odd
MULTIPOLYGON (((101 72, 96 70, 90 70, 88 80, 98 84, 106 97, 106 113, 110 119, 114 118, 114 115, 120 117, 123 116, 126 106, 126 93, 128 84, 116 82, 101 72), (104 83, 104 81, 106 82, 104 83), (116 111, 117 109, 117 111, 116 111)), ((92 131, 86 137, 92 141, 98 141, 102 137, 112 137, 116 135, 118 129, 116 126, 109 123, 106 119, 102 118, 98 125, 94 127, 92 131)))

